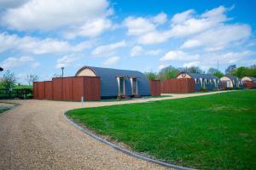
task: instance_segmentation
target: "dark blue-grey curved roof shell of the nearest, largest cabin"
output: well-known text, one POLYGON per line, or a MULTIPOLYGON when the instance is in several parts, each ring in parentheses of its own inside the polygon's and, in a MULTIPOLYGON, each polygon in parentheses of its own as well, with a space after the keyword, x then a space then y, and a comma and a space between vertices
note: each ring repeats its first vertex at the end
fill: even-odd
MULTIPOLYGON (((137 92, 139 95, 150 95, 148 78, 140 71, 127 71, 94 66, 84 66, 79 71, 89 68, 94 71, 97 77, 101 77, 102 97, 113 97, 119 93, 117 77, 125 77, 125 95, 131 95, 130 77, 137 78, 137 92)), ((78 71, 78 73, 79 73, 78 71)), ((78 74, 77 73, 77 74, 78 74)))

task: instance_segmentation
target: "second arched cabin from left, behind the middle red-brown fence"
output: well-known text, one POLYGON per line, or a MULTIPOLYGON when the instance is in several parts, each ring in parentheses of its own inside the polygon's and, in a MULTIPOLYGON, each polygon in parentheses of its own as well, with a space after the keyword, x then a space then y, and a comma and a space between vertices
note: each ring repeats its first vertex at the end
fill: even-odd
POLYGON ((219 78, 212 75, 180 72, 176 78, 177 79, 182 79, 182 78, 194 79, 195 91, 214 90, 214 89, 221 88, 219 78))

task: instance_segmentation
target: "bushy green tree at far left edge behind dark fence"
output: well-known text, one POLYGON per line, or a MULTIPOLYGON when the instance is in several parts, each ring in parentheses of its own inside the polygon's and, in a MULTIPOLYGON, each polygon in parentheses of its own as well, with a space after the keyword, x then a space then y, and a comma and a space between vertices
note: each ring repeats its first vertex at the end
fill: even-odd
POLYGON ((17 82, 17 77, 15 77, 15 73, 7 70, 3 74, 1 86, 6 89, 12 89, 14 88, 16 82, 17 82))

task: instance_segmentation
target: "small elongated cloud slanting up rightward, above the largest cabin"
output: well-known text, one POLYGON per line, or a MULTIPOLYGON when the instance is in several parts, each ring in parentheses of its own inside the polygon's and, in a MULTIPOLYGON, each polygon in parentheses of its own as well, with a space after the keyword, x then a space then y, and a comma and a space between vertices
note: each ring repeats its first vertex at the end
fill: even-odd
POLYGON ((123 40, 121 42, 114 42, 108 45, 102 45, 97 48, 95 48, 91 54, 97 55, 97 56, 109 56, 110 54, 113 54, 113 50, 117 48, 123 48, 126 46, 126 42, 123 40))

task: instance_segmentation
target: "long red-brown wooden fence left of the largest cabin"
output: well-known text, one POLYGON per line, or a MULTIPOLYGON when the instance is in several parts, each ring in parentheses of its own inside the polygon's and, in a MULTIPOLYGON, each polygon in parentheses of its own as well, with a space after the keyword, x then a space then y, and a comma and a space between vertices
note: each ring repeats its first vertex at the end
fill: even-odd
POLYGON ((63 77, 33 82, 34 99, 80 101, 101 99, 100 77, 63 77))

